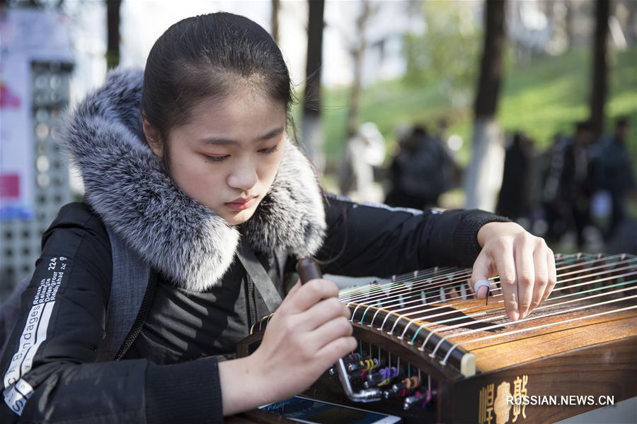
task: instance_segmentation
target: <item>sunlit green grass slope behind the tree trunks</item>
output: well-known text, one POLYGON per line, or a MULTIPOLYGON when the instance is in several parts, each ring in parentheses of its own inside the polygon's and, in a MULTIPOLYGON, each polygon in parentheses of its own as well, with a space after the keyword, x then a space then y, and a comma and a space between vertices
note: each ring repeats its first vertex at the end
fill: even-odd
MULTIPOLYGON (((557 132, 570 134, 573 123, 587 118, 589 113, 590 61, 590 49, 575 49, 559 57, 542 57, 507 69, 498 105, 500 125, 505 131, 521 129, 540 149, 549 146, 557 132)), ((613 52, 611 63, 607 129, 612 128, 616 117, 628 115, 632 129, 629 145, 633 155, 637 155, 637 49, 613 52)), ((323 90, 321 112, 328 162, 340 158, 348 99, 349 88, 323 90)), ((473 119, 471 106, 452 107, 435 84, 414 87, 400 80, 383 81, 363 90, 360 122, 375 122, 391 151, 397 126, 433 124, 447 117, 451 121, 449 134, 459 134, 465 141, 459 160, 466 163, 473 119)))

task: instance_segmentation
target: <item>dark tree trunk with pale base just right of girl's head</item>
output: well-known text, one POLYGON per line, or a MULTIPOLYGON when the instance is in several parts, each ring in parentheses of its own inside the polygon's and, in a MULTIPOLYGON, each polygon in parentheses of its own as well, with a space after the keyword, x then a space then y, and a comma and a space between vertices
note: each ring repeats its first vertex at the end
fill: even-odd
POLYGON ((303 99, 302 143, 309 159, 322 171, 323 131, 321 128, 321 63, 323 61, 324 0, 308 0, 306 83, 303 99))

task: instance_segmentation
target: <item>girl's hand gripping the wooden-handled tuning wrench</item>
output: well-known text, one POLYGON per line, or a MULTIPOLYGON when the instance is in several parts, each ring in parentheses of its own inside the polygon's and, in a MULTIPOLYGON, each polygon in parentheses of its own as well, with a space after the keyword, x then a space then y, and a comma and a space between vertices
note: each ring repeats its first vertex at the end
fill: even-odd
POLYGON ((297 283, 272 316, 259 348, 219 363, 224 415, 287 399, 357 348, 335 283, 297 283))

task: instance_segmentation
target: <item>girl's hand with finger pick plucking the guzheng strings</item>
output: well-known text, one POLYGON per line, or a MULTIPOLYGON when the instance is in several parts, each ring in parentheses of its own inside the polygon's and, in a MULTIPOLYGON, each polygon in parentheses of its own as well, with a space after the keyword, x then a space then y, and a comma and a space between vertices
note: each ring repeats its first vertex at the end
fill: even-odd
MULTIPOLYGON (((482 247, 471 273, 476 281, 500 275, 505 310, 510 319, 522 319, 549 297, 556 283, 553 251, 544 239, 516 223, 487 223, 478 230, 482 247)), ((480 290, 478 299, 486 297, 480 290)))

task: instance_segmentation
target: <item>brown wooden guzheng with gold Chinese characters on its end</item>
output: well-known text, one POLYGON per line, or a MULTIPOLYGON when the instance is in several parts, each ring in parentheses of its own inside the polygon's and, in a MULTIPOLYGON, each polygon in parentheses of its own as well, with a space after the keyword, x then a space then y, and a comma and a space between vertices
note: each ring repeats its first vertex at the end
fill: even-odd
MULTIPOLYGON (((373 387, 379 380, 369 375, 383 369, 399 374, 379 387, 389 399, 369 404, 345 399, 329 372, 304 395, 406 423, 480 424, 553 422, 602 407, 607 396, 615 403, 637 396, 637 257, 558 254, 556 268, 549 299, 517 322, 506 317, 497 277, 487 305, 474 298, 470 269, 427 269, 341 290, 359 340, 346 358, 352 386, 369 379, 373 387), (417 401, 406 407, 410 396, 417 401)), ((239 356, 258 346, 268 319, 239 344, 239 356)))

